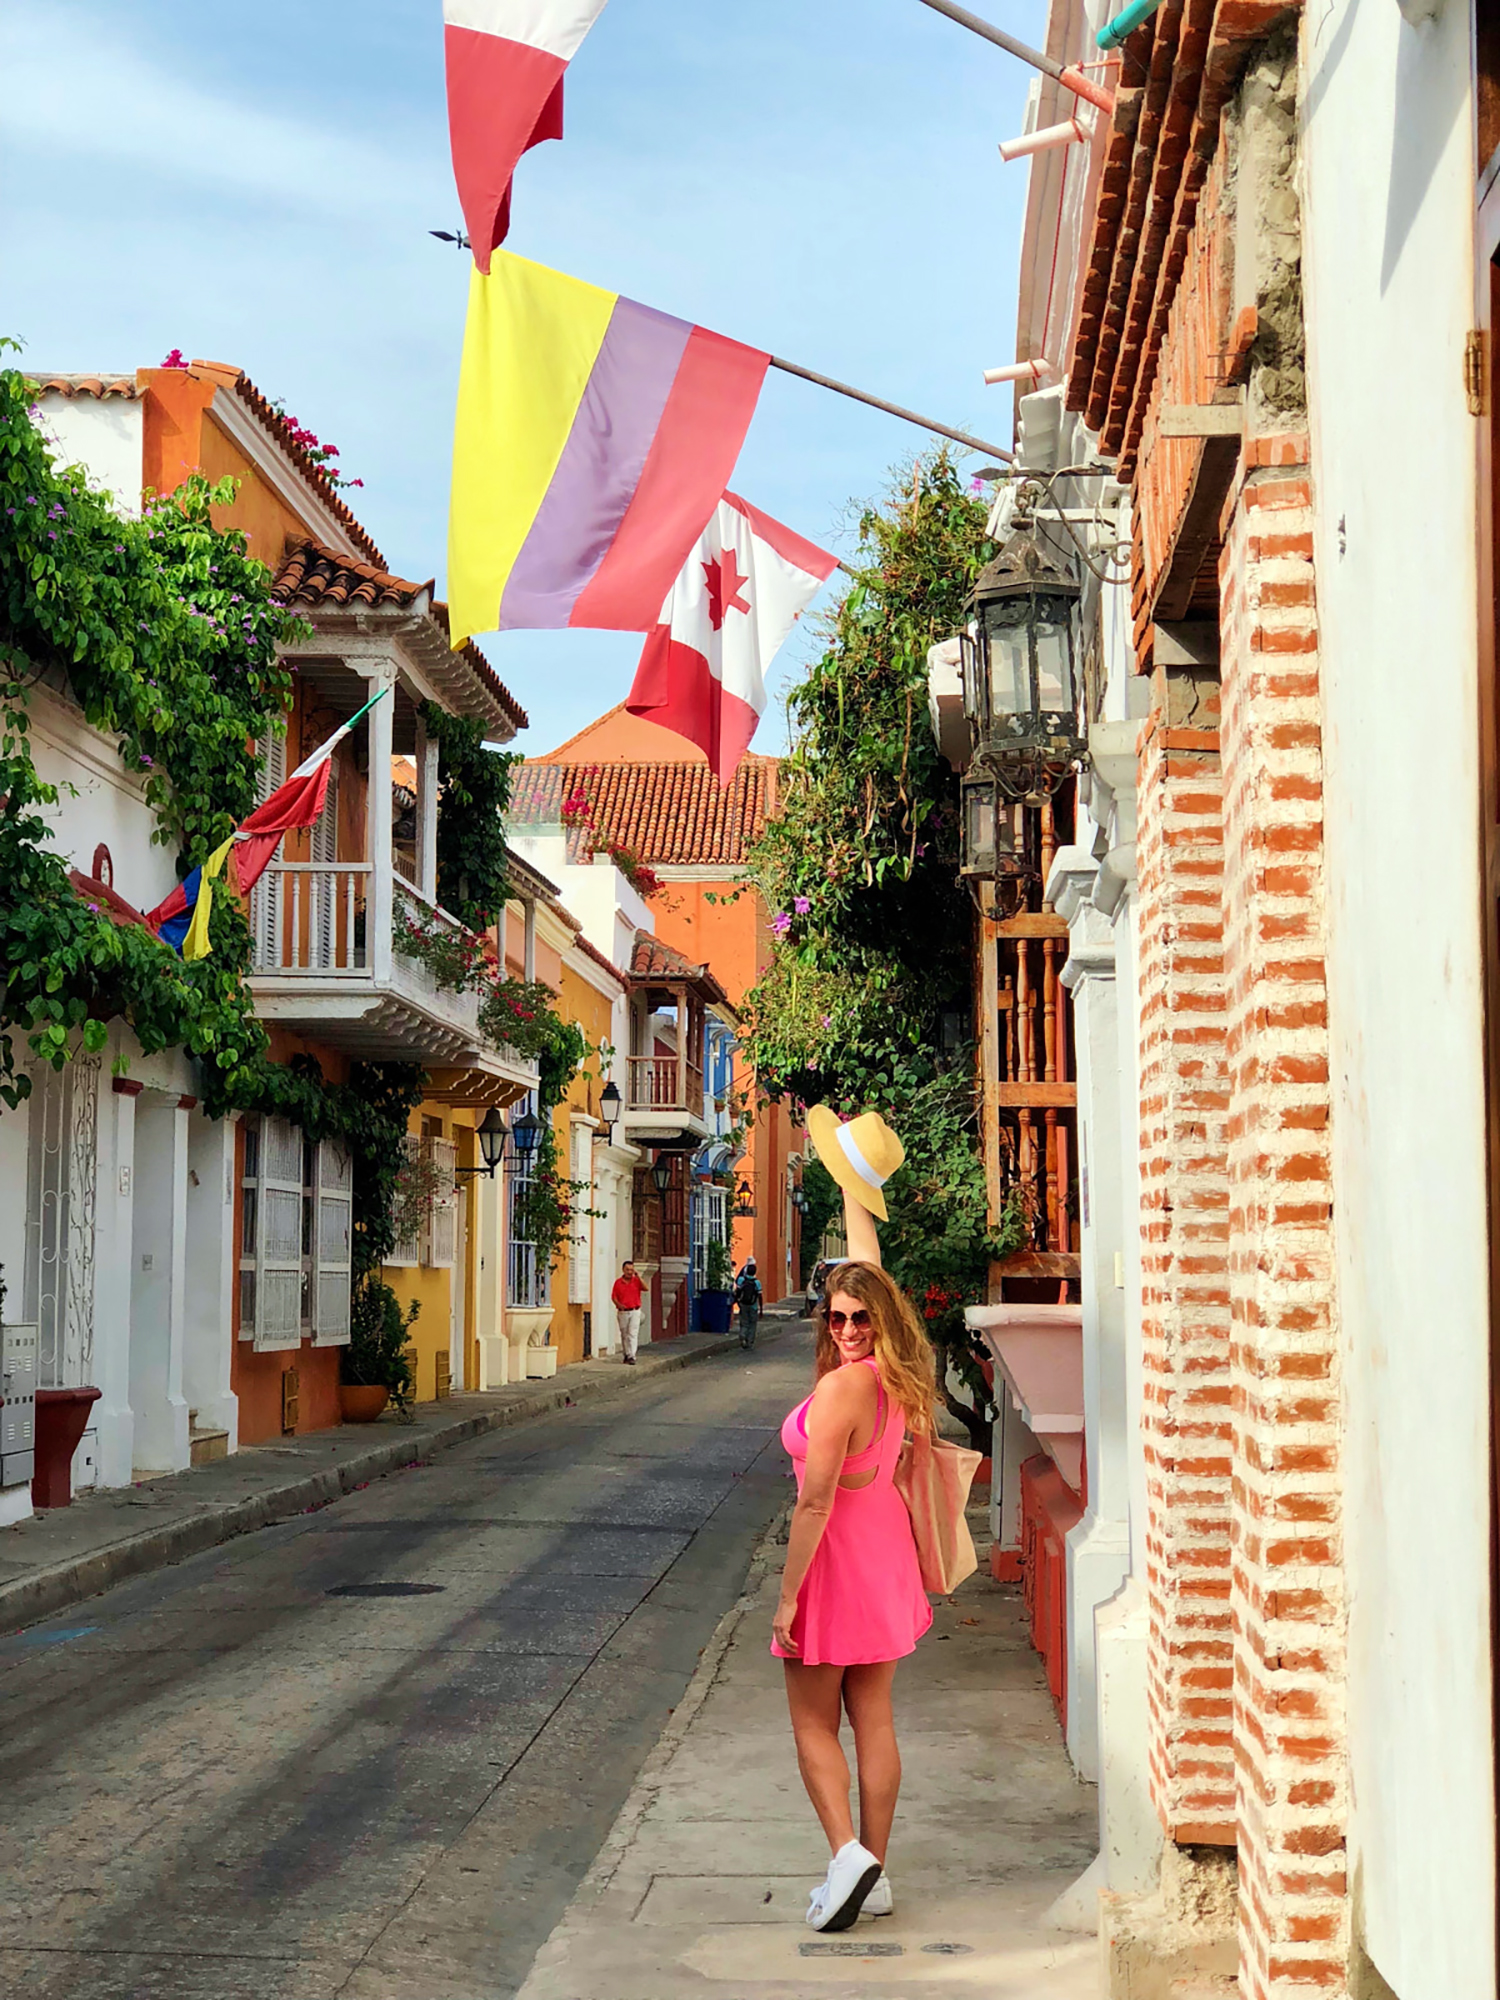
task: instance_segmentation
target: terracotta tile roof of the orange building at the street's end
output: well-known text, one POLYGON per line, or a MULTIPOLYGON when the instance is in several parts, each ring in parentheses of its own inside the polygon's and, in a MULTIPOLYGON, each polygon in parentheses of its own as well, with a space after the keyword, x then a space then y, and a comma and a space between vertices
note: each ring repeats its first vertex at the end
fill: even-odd
POLYGON ((584 794, 598 836, 650 868, 742 866, 766 824, 776 758, 748 756, 728 786, 708 764, 542 764, 516 770, 510 816, 556 826, 584 794))

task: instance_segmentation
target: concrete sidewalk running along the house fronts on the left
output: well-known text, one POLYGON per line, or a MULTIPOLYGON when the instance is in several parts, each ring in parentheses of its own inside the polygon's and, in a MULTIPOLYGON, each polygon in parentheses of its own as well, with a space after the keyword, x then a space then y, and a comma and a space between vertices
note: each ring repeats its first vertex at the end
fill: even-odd
MULTIPOLYGON (((788 1314, 766 1318, 774 1336, 788 1314)), ((236 1534, 308 1514, 488 1430, 600 1396, 630 1396, 660 1374, 716 1354, 738 1356, 738 1340, 688 1334, 642 1348, 636 1368, 610 1354, 546 1382, 418 1404, 410 1424, 388 1412, 378 1424, 310 1430, 190 1472, 78 1494, 72 1506, 0 1528, 0 1632, 50 1618, 128 1576, 182 1562, 236 1534)))

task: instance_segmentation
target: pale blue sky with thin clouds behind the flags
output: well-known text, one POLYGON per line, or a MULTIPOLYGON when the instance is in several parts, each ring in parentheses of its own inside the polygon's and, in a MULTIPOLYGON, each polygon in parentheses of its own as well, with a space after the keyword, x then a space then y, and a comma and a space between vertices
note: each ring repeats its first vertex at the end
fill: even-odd
MULTIPOLYGON (((990 18, 1042 38, 1040 0, 990 18)), ((0 332, 38 368, 236 362, 442 582, 466 258, 440 0, 0 0, 0 332)), ((510 248, 1006 442, 1032 72, 918 0, 610 0, 510 248)), ((836 552, 922 434, 772 372, 736 488, 836 552)), ((798 632, 772 698, 796 676, 798 632)), ((640 640, 486 640, 548 750, 640 640)), ((776 706, 756 748, 782 742, 776 706)))

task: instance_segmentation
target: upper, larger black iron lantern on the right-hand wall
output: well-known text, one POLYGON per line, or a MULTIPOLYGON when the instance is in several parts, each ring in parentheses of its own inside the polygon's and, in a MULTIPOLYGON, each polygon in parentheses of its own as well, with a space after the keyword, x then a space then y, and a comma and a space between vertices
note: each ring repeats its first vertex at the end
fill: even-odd
POLYGON ((1030 514, 1018 514, 1014 534, 974 582, 964 632, 964 710, 974 760, 1004 798, 1040 804, 1084 752, 1078 598, 1072 562, 1038 536, 1030 514))

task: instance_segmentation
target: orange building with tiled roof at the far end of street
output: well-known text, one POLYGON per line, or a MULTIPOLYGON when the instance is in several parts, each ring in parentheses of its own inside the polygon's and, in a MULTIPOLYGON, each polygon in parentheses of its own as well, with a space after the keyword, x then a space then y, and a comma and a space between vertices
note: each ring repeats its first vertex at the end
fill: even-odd
MULTIPOLYGON (((770 958, 768 914, 746 876, 746 858, 774 810, 776 758, 746 756, 732 782, 720 786, 700 750, 624 706, 528 760, 512 786, 516 824, 566 820, 580 842, 646 866, 660 882, 650 896, 656 936, 706 966, 736 1010, 770 958), (586 802, 582 812, 578 800, 586 802)), ((734 1166, 734 1260, 738 1266, 754 1256, 766 1298, 774 1300, 802 1276, 792 1206, 802 1128, 790 1106, 756 1104, 754 1076, 738 1054, 734 1090, 754 1112, 734 1166)))

